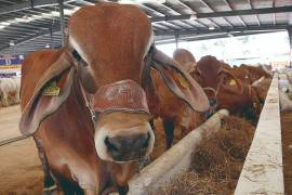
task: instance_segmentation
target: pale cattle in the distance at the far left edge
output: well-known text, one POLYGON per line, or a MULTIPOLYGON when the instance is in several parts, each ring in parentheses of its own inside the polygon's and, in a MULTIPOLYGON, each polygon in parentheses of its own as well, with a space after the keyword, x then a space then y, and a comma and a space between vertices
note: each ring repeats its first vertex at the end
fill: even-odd
POLYGON ((0 78, 0 107, 19 103, 21 78, 0 78))

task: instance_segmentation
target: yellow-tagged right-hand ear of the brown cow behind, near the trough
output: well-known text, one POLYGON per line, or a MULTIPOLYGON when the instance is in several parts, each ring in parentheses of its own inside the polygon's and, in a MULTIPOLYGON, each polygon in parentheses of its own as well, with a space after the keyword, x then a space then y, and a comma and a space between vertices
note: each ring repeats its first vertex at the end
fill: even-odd
POLYGON ((222 69, 222 73, 224 74, 223 88, 242 94, 243 93, 242 82, 238 78, 236 78, 233 74, 230 74, 227 69, 222 69))

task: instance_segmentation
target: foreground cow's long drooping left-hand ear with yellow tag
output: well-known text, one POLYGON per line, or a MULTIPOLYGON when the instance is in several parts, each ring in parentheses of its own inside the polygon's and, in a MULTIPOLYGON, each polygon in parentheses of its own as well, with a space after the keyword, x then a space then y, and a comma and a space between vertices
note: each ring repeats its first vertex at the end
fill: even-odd
MULTIPOLYGON (((40 77, 32 95, 25 94, 31 98, 26 105, 22 105, 24 108, 19 130, 24 135, 35 133, 40 122, 65 102, 70 92, 75 69, 68 54, 63 53, 40 77)), ((21 93, 24 95, 26 92, 22 90, 21 93)))

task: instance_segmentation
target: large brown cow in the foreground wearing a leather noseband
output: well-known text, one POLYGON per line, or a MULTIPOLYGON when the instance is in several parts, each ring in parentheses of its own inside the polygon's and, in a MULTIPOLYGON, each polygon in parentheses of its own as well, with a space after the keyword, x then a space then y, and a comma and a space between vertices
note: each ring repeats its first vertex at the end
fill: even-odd
POLYGON ((159 106, 152 74, 194 110, 205 110, 208 100, 150 47, 150 22, 138 8, 85 6, 70 17, 69 29, 67 47, 31 53, 23 63, 21 131, 34 135, 45 188, 54 178, 65 194, 124 194, 136 161, 154 145, 148 121, 159 106))

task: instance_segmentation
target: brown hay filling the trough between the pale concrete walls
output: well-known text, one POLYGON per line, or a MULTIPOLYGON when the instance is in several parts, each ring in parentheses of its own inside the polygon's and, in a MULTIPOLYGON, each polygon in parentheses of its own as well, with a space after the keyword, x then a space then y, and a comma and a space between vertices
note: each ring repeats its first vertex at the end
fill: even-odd
POLYGON ((193 152, 189 170, 154 194, 234 194, 255 127, 229 116, 222 128, 193 152))

